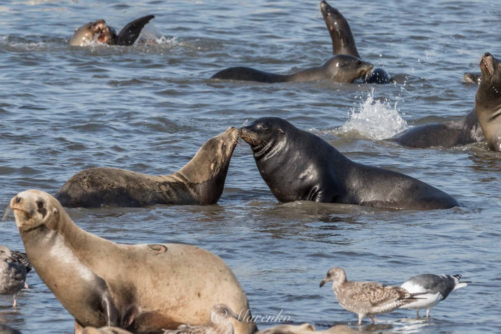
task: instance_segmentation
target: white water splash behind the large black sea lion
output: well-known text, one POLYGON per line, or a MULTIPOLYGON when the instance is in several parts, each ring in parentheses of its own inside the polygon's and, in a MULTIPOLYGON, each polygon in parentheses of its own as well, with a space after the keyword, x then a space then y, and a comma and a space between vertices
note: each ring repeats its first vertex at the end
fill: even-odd
POLYGON ((390 105, 388 100, 374 100, 374 90, 365 102, 359 104, 358 110, 351 108, 350 119, 338 130, 338 134, 349 137, 362 137, 371 140, 391 138, 409 126, 400 117, 397 103, 390 105))

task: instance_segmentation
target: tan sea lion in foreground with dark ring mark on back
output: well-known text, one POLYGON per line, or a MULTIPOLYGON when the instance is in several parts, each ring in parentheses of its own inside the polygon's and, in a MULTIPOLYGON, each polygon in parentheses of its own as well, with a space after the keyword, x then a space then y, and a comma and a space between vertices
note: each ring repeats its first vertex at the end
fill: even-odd
MULTIPOLYGON (((218 256, 186 244, 118 244, 79 228, 51 195, 17 194, 10 203, 26 253, 42 281, 83 327, 117 326, 153 334, 206 323, 225 303, 249 310, 231 269, 218 256)), ((251 334, 252 321, 233 323, 251 334)))

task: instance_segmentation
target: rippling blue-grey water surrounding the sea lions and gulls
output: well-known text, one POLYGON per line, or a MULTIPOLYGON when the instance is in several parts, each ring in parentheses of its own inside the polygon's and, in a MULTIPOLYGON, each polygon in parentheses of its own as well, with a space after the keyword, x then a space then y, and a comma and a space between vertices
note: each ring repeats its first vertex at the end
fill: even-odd
MULTIPOLYGON (((473 106, 484 52, 501 57, 501 6, 415 0, 331 3, 349 20, 364 60, 390 85, 260 84, 208 80, 230 66, 290 72, 321 64, 331 40, 316 1, 25 1, 0 5, 0 206, 19 191, 54 194, 97 166, 169 174, 207 139, 263 116, 320 135, 350 159, 409 174, 464 207, 391 211, 355 205, 278 203, 244 142, 217 205, 71 209, 85 230, 124 243, 184 242, 221 256, 255 315, 288 315, 318 329, 358 330, 329 287, 332 266, 349 279, 401 284, 419 273, 473 281, 415 319, 380 315, 362 329, 398 333, 501 332, 501 155, 485 143, 409 149, 395 129, 458 119, 473 106), (159 45, 70 48, 75 28, 99 18, 116 29, 154 14, 159 45), (357 119, 357 115, 360 115, 357 119), (389 117, 387 117, 389 115, 389 117), (360 122, 363 120, 363 122, 360 122), (344 131, 351 127, 350 131, 344 131), (393 129, 392 129, 393 128, 393 129)), ((23 249, 13 217, 1 242, 23 249)), ((71 315, 36 273, 18 310, 0 297, 0 322, 25 333, 70 333, 71 315)), ((271 322, 258 321, 260 328, 271 322)))

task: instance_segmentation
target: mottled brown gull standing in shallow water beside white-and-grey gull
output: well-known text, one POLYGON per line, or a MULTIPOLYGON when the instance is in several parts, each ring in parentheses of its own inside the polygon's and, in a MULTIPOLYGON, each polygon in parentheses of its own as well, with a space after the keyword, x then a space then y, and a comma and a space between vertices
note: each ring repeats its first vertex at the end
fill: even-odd
POLYGON ((346 280, 345 271, 339 267, 329 269, 320 287, 328 281, 332 281, 332 289, 341 307, 358 314, 359 325, 365 316, 369 316, 374 323, 375 314, 388 313, 418 300, 415 294, 399 286, 346 280))

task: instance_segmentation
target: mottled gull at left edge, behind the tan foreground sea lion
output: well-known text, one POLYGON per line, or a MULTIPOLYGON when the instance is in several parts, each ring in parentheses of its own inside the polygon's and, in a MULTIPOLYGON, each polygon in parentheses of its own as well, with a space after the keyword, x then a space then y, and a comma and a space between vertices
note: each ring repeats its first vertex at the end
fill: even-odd
POLYGON ((11 250, 0 246, 0 294, 10 294, 16 307, 16 296, 25 286, 26 266, 12 257, 11 250))

